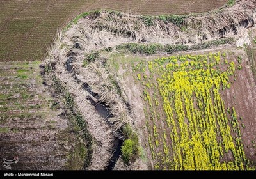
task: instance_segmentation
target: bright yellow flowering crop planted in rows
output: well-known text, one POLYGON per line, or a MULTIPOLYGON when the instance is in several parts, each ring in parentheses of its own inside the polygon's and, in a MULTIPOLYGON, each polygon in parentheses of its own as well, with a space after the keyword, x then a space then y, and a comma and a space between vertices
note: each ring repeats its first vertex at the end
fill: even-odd
MULTIPOLYGON (((230 88, 229 78, 236 71, 236 59, 229 61, 220 52, 171 56, 150 61, 145 65, 148 72, 145 68, 138 72, 136 78, 145 87, 148 104, 148 144, 155 169, 252 169, 243 150, 236 110, 226 108, 220 95, 230 88), (221 65, 225 70, 220 70, 221 65), (164 117, 159 117, 159 111, 164 117), (232 160, 225 160, 227 153, 232 160)), ((134 70, 140 70, 141 64, 134 70)))

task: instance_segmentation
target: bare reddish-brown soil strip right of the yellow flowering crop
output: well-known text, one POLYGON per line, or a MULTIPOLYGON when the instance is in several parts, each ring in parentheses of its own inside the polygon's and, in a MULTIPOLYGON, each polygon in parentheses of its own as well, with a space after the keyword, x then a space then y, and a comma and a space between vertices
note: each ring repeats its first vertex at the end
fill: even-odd
POLYGON ((231 79, 232 86, 221 95, 226 107, 236 107, 237 118, 241 128, 244 152, 248 159, 256 161, 256 86, 253 80, 252 69, 246 54, 243 51, 242 70, 237 71, 236 77, 231 79), (241 117, 241 118, 240 118, 241 117), (242 125, 243 124, 243 125, 242 125))

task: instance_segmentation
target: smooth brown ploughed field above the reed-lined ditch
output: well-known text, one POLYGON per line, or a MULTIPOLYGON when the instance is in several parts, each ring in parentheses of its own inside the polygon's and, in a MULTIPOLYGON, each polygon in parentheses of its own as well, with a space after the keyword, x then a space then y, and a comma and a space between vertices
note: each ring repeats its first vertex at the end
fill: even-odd
POLYGON ((81 12, 108 8, 135 14, 207 12, 221 1, 95 1, 8 0, 0 2, 0 61, 34 61, 44 56, 56 30, 81 12))

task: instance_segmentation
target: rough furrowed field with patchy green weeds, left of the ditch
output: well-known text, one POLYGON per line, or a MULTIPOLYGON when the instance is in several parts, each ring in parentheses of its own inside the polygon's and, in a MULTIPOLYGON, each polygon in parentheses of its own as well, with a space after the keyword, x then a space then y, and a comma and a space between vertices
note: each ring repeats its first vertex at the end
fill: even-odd
POLYGON ((83 143, 42 84, 38 65, 0 63, 0 159, 18 157, 12 169, 81 169, 83 143))

